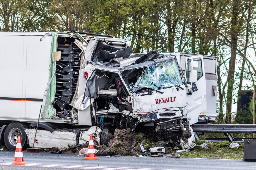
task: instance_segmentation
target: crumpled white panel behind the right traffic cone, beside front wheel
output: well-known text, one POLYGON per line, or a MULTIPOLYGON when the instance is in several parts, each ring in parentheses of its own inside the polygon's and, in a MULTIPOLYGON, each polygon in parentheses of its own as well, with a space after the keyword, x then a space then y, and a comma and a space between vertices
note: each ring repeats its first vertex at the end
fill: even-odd
POLYGON ((101 129, 100 129, 100 127, 97 127, 97 126, 90 127, 90 129, 88 129, 88 131, 82 131, 80 133, 78 143, 79 144, 87 143, 90 140, 90 134, 92 134, 94 140, 96 140, 98 143, 100 143, 101 129))

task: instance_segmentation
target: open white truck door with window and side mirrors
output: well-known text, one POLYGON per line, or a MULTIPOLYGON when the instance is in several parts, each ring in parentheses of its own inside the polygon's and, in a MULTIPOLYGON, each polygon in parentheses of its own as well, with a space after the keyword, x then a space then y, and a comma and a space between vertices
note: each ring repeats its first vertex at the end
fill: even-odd
POLYGON ((186 58, 185 77, 191 91, 187 93, 187 119, 190 124, 194 124, 198 122, 199 114, 206 110, 205 69, 202 55, 186 58))

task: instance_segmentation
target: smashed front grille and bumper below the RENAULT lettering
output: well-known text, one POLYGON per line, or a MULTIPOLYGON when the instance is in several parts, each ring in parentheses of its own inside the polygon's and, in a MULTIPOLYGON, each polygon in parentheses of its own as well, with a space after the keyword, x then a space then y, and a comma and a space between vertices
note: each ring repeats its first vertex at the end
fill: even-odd
POLYGON ((154 126, 158 141, 175 149, 189 149, 195 146, 195 137, 189 123, 183 123, 183 110, 166 110, 140 115, 138 122, 145 127, 154 126))

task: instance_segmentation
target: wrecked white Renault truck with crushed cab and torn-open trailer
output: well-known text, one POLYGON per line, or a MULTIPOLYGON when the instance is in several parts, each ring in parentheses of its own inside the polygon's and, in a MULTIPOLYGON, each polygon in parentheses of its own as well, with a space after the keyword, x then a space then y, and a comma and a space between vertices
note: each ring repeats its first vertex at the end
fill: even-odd
POLYGON ((206 110, 202 55, 132 54, 126 39, 75 30, 1 37, 0 141, 8 149, 18 135, 23 148, 34 138, 35 148, 67 148, 91 133, 108 144, 116 128, 195 146, 190 125, 206 110))

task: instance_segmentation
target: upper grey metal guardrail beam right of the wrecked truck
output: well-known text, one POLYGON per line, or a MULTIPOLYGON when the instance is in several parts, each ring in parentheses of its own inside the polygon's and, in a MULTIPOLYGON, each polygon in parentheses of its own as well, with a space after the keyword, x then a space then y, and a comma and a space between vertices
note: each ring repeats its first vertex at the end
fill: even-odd
POLYGON ((194 132, 256 133, 256 124, 193 124, 194 132))

